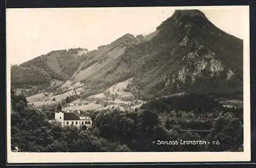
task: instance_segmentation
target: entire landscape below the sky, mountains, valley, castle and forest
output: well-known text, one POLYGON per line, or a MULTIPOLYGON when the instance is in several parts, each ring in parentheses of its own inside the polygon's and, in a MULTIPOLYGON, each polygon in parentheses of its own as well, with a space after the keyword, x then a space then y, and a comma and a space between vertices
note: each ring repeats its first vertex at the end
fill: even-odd
POLYGON ((243 47, 200 10, 175 10, 147 35, 13 65, 12 148, 242 152, 243 47), (220 146, 156 146, 157 139, 217 139, 220 146))

